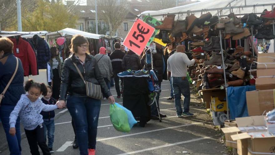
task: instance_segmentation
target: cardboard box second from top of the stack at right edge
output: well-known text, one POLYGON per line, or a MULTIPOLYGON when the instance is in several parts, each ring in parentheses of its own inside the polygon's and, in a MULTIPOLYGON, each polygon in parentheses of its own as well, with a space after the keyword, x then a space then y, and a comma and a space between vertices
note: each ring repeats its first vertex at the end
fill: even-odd
MULTIPOLYGON (((274 62, 275 65, 275 62, 274 62)), ((275 89, 275 69, 257 70, 256 89, 275 89)))

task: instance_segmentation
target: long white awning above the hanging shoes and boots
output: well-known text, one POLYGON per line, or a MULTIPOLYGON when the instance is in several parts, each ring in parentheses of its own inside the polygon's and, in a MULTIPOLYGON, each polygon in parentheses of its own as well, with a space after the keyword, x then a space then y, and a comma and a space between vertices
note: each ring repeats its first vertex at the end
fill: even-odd
MULTIPOLYGON (((179 7, 174 7, 174 8, 168 8, 168 9, 163 9, 163 10, 158 10, 158 11, 144 11, 141 13, 141 15, 151 15, 154 18, 160 20, 163 18, 163 14, 167 13, 173 13, 176 14, 176 19, 185 19, 187 13, 184 14, 178 14, 179 12, 187 12, 189 10, 190 13, 194 13, 196 10, 203 10, 204 12, 210 12, 212 15, 215 15, 217 13, 216 10, 210 10, 210 9, 215 9, 215 8, 226 8, 226 7, 238 7, 238 8, 232 8, 233 12, 235 14, 243 14, 243 13, 262 13, 264 9, 271 10, 271 6, 257 6, 255 9, 253 8, 253 5, 257 4, 273 4, 274 0, 265 0, 265 1, 258 1, 258 0, 207 0, 207 1, 202 1, 202 2, 197 2, 197 3, 192 3, 184 6, 179 6, 179 7), (245 8, 245 5, 252 5, 252 7, 245 8), (191 11, 190 11, 191 10, 191 11)), ((223 15, 228 15, 230 13, 229 9, 222 10, 223 15)), ((194 13, 195 16, 198 18, 201 16, 201 11, 194 13)))

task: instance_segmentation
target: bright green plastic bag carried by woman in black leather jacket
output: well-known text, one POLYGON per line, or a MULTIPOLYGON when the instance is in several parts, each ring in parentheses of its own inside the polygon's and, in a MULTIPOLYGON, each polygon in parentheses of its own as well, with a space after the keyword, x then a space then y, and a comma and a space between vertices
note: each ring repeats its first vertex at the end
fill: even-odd
POLYGON ((110 119, 116 130, 130 132, 127 113, 115 104, 110 105, 110 119))

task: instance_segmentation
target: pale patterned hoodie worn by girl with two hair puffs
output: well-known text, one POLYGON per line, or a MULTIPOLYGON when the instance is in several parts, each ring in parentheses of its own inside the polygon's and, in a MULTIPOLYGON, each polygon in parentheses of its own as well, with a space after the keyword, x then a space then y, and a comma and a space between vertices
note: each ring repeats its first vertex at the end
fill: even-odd
POLYGON ((15 127, 19 114, 24 128, 27 130, 34 130, 39 124, 43 123, 43 116, 40 115, 41 111, 52 111, 57 108, 57 105, 44 104, 40 97, 32 102, 27 94, 22 94, 20 100, 10 114, 10 127, 15 127))

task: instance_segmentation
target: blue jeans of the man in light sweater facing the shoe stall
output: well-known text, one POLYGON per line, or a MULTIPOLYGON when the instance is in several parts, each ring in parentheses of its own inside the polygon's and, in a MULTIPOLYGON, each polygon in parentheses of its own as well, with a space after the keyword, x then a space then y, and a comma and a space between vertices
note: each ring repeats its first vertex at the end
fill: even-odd
POLYGON ((175 106, 177 115, 182 115, 183 112, 189 112, 190 106, 190 87, 187 79, 182 80, 181 77, 172 77, 172 86, 174 89, 175 106), (181 95, 184 96, 183 109, 181 106, 181 95))

